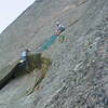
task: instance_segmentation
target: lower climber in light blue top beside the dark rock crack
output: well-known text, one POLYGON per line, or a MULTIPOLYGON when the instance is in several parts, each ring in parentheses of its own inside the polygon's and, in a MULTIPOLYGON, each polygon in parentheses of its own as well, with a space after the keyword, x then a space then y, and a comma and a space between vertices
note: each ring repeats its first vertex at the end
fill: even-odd
POLYGON ((25 51, 23 51, 21 54, 21 60, 19 60, 19 63, 22 65, 25 65, 26 67, 28 67, 28 52, 29 50, 25 49, 25 51))

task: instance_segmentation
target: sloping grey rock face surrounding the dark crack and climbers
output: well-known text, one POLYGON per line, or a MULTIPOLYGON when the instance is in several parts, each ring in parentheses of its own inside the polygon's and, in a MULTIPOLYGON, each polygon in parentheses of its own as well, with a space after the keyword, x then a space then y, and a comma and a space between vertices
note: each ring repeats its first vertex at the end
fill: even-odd
POLYGON ((37 0, 1 33, 0 69, 50 38, 56 21, 66 39, 43 52, 53 62, 45 78, 30 95, 40 70, 13 79, 0 108, 108 108, 108 0, 37 0))

